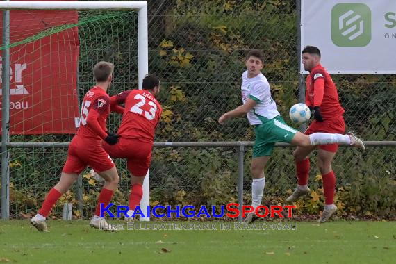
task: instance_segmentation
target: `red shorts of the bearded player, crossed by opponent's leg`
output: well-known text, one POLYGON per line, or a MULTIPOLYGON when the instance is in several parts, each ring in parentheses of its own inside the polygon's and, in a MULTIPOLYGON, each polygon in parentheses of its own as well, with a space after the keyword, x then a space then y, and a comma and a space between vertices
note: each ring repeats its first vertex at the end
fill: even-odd
MULTIPOLYGON (((341 115, 330 120, 324 120, 324 122, 317 122, 315 120, 308 126, 308 129, 306 129, 304 134, 311 135, 316 132, 338 134, 345 133, 344 117, 341 115)), ((338 144, 319 145, 319 148, 329 152, 337 152, 338 144)))

